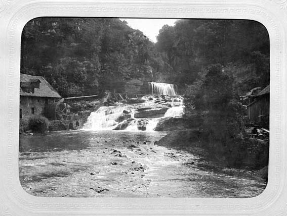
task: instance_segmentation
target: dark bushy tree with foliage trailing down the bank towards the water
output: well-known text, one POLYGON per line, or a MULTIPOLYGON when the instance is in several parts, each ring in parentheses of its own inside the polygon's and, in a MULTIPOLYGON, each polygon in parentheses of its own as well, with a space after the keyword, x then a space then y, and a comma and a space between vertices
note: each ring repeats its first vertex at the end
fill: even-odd
POLYGON ((247 155, 244 140, 244 109, 235 94, 235 80, 220 64, 211 65, 194 85, 189 86, 187 111, 203 119, 200 131, 209 152, 228 166, 242 166, 247 155))

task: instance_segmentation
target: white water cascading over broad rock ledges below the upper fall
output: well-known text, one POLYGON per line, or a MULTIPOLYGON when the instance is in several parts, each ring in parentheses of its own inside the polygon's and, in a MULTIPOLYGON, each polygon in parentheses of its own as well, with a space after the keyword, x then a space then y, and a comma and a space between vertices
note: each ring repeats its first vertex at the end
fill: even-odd
POLYGON ((100 107, 91 113, 84 130, 153 131, 160 119, 177 118, 184 114, 182 98, 146 95, 141 99, 145 102, 100 107), (159 115, 160 110, 162 112, 159 115))

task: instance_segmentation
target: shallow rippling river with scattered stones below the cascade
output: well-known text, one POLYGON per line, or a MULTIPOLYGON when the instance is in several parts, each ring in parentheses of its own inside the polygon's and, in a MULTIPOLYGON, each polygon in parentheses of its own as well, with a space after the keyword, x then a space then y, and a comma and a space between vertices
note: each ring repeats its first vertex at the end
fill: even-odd
MULTIPOLYGON (((166 132, 68 131, 20 137, 24 190, 47 197, 254 197, 266 184, 154 145, 166 132)), ((203 151, 203 150, 202 150, 203 151)))

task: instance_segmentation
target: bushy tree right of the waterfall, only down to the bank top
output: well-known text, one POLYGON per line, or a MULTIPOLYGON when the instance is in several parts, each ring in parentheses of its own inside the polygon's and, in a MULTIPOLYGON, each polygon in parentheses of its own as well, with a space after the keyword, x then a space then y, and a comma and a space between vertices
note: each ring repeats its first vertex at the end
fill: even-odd
POLYGON ((243 132, 243 107, 234 92, 232 77, 219 64, 209 66, 201 80, 189 88, 186 109, 192 106, 204 113, 202 129, 212 140, 226 142, 243 132))

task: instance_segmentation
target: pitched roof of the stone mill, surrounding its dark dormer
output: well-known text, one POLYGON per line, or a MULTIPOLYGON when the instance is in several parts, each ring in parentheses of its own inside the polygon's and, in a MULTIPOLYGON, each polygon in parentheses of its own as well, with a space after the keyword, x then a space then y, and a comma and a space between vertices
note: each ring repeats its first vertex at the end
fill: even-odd
POLYGON ((41 76, 32 76, 28 74, 20 74, 20 83, 21 82, 30 82, 30 80, 40 81, 39 88, 34 88, 34 93, 25 92, 20 87, 21 96, 34 96, 34 97, 56 97, 60 98, 61 96, 57 91, 46 81, 44 77, 41 76))

